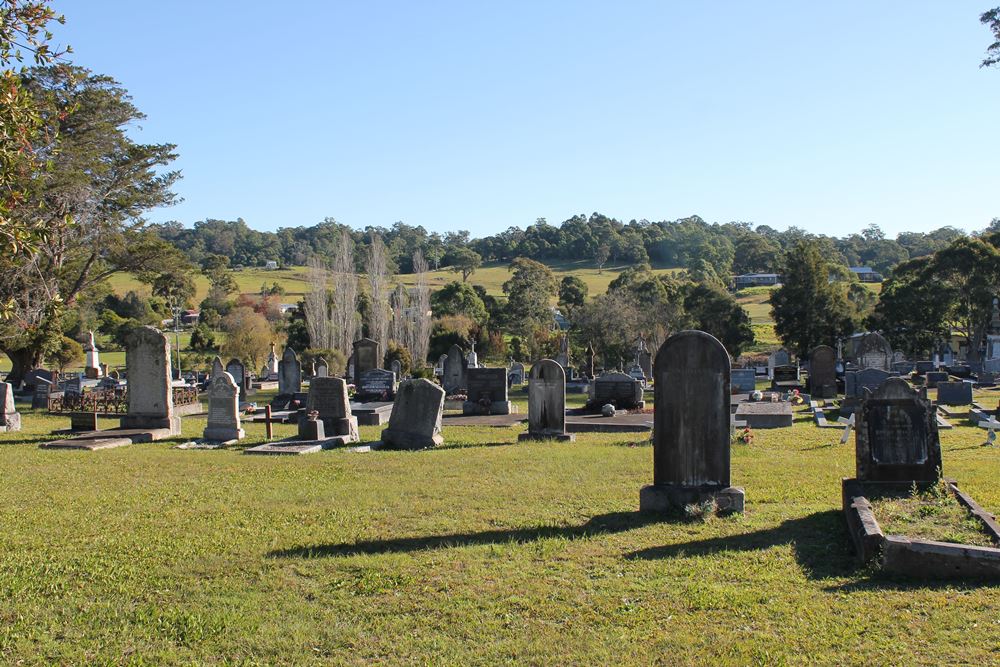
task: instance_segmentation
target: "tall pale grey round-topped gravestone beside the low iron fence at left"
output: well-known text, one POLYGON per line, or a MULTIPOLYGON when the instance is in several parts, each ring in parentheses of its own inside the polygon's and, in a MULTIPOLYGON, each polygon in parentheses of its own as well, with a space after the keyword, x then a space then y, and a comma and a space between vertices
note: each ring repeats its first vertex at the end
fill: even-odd
POLYGON ((125 352, 128 377, 126 429, 168 429, 181 432, 181 418, 174 414, 170 386, 170 341, 154 327, 139 327, 129 334, 125 352))

